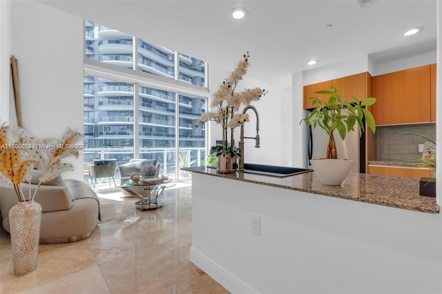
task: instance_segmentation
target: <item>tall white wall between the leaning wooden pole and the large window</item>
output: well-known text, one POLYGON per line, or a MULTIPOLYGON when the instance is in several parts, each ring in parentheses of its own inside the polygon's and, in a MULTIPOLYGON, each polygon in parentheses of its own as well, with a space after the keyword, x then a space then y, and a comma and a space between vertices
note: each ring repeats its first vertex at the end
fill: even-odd
MULTIPOLYGON (((83 132, 83 20, 34 1, 13 1, 11 54, 19 64, 23 127, 56 137, 83 132)), ((2 79, 3 81, 3 79, 2 79)), ((70 159, 83 178, 82 158, 70 159)))

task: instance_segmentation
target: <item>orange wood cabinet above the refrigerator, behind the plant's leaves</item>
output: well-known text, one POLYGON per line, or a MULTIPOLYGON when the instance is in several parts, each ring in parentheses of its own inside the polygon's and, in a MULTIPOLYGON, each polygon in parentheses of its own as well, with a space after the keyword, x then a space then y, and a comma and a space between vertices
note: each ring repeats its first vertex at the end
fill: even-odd
POLYGON ((311 104, 310 97, 318 97, 323 100, 328 99, 327 95, 315 94, 318 90, 329 90, 330 86, 334 86, 343 90, 343 99, 353 102, 352 96, 362 100, 369 97, 371 91, 372 76, 368 72, 362 72, 357 75, 350 75, 348 77, 341 77, 339 79, 332 79, 330 81, 323 81, 317 84, 304 86, 304 109, 311 109, 314 106, 311 104))

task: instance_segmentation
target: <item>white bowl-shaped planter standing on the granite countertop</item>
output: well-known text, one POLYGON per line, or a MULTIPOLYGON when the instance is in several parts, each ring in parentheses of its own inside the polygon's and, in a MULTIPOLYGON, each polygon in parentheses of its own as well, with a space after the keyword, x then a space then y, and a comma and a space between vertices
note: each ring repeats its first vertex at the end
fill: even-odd
POLYGON ((350 159, 325 159, 310 160, 311 167, 319 181, 326 185, 340 185, 352 170, 354 161, 350 159))

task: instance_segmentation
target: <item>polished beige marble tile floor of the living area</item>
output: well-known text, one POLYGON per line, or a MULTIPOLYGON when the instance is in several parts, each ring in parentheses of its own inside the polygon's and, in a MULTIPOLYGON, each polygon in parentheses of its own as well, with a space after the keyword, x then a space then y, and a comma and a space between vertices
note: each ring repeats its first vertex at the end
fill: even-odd
POLYGON ((165 190, 165 205, 136 210, 133 197, 98 192, 102 221, 88 239, 41 244, 38 266, 12 274, 0 230, 0 293, 229 293, 189 261, 191 186, 165 190))

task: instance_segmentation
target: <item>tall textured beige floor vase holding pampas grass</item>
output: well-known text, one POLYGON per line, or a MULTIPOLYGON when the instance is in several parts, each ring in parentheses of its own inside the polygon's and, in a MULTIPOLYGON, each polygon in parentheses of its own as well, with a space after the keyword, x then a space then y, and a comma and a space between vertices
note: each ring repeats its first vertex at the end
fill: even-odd
POLYGON ((37 268, 41 205, 34 200, 19 202, 9 210, 14 275, 20 277, 37 268))

